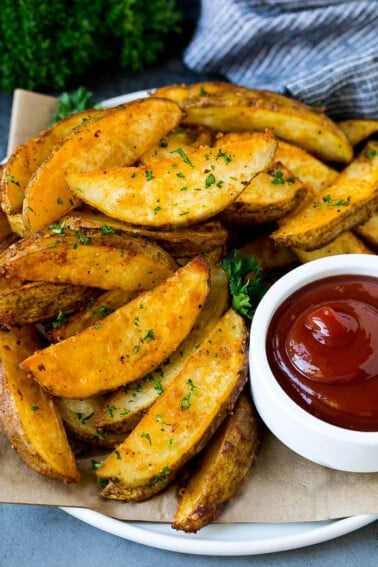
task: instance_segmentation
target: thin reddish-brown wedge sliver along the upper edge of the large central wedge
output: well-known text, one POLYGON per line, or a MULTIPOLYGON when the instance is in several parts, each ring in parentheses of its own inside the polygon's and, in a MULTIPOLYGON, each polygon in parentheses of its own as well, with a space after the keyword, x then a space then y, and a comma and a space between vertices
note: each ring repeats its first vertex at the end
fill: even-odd
MULTIPOLYGON (((116 288, 105 291, 95 300, 91 298, 91 300, 86 303, 84 309, 73 313, 70 317, 67 317, 61 325, 55 326, 47 332, 49 341, 57 343, 68 337, 77 335, 77 333, 84 331, 84 329, 87 329, 91 325, 95 325, 104 317, 113 313, 118 307, 128 303, 137 293, 138 292, 116 288)), ((64 310, 62 309, 62 311, 64 310)))

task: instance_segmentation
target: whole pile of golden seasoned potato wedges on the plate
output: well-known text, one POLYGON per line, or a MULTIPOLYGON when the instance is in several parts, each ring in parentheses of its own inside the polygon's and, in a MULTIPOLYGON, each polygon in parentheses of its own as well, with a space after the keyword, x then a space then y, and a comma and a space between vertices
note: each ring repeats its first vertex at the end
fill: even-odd
POLYGON ((274 281, 375 255, 377 129, 208 82, 18 146, 0 186, 0 426, 25 463, 80 482, 77 446, 94 446, 102 497, 176 482, 175 529, 216 520, 262 437, 220 262, 237 248, 274 281))

